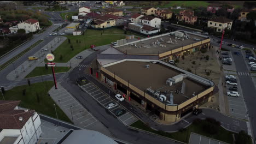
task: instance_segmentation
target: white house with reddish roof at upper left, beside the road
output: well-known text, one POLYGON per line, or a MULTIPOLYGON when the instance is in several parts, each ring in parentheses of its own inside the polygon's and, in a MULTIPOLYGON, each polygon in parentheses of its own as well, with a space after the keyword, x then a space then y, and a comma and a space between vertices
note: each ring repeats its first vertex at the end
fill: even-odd
POLYGON ((38 20, 28 19, 24 22, 18 23, 18 29, 25 29, 26 33, 30 33, 40 30, 40 26, 38 20))

